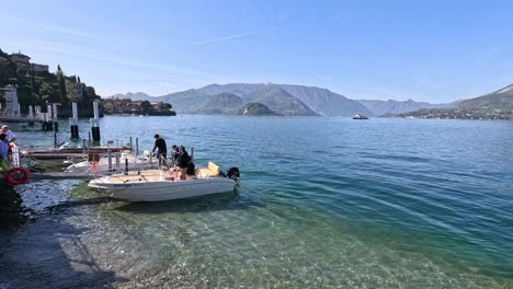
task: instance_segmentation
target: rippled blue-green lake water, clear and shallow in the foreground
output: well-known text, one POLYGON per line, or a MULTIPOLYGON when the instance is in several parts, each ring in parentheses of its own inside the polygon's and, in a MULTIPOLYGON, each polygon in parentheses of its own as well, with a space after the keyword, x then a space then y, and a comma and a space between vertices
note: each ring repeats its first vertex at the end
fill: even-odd
MULTIPOLYGON (((13 128, 22 148, 54 142, 13 128)), ((238 166, 239 192, 148 204, 19 186, 0 288, 513 288, 513 122, 101 119, 103 142, 142 151, 156 132, 196 165, 238 166)))

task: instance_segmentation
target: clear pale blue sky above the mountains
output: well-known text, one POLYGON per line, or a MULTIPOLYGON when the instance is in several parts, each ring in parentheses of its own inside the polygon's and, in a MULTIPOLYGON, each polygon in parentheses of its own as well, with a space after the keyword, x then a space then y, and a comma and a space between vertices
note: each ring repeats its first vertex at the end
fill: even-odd
POLYGON ((0 0, 0 48, 109 96, 210 83, 445 103, 513 83, 513 1, 0 0), (5 9, 8 8, 8 9, 5 9))

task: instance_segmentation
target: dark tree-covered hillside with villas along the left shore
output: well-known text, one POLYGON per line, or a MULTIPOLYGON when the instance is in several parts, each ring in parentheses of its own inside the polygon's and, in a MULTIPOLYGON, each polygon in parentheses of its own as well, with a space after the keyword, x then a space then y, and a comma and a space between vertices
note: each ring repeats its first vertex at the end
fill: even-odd
POLYGON ((100 101, 101 115, 176 115, 171 111, 172 105, 162 101, 101 99, 94 88, 80 81, 80 77, 66 76, 60 66, 52 73, 48 65, 31 62, 31 59, 20 50, 5 54, 0 49, 1 114, 26 114, 30 105, 45 111, 47 103, 56 103, 60 106, 60 116, 70 116, 71 103, 77 102, 81 106, 80 116, 90 116, 92 102, 100 101), (15 102, 11 96, 5 99, 5 91, 12 91, 15 102))

